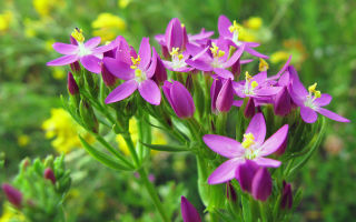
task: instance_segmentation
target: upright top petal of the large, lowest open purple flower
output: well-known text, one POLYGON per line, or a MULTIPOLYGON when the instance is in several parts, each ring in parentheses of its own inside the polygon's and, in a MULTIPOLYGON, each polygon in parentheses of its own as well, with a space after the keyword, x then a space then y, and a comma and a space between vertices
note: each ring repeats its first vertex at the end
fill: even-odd
POLYGON ((245 133, 253 133, 255 141, 263 144, 266 137, 266 121, 263 113, 254 115, 245 133))

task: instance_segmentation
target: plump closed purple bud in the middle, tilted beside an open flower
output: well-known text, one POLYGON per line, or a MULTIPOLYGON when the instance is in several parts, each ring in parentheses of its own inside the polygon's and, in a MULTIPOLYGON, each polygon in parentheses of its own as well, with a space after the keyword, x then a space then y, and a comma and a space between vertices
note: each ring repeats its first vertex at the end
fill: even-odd
POLYGON ((179 118, 191 118, 196 111, 192 98, 189 91, 178 81, 165 81, 162 87, 164 93, 179 118))

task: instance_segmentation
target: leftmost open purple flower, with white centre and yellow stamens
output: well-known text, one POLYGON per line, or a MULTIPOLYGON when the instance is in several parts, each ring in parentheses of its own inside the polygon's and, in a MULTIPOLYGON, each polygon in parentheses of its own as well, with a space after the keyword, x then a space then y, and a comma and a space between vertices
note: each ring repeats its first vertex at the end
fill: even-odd
POLYGON ((100 37, 95 37, 85 42, 82 31, 78 28, 75 29, 71 37, 71 44, 61 42, 56 42, 53 44, 53 49, 57 52, 65 54, 65 57, 47 62, 47 65, 65 65, 80 61, 81 64, 90 72, 100 73, 102 53, 113 49, 117 44, 116 40, 107 46, 98 47, 101 41, 100 37))

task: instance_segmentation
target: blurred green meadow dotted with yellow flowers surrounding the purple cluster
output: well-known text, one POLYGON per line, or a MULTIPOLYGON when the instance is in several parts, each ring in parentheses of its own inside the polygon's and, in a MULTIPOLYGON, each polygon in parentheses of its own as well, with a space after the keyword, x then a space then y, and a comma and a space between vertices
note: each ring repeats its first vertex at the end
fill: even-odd
MULTIPOLYGON (((108 41, 120 34, 137 47, 141 37, 150 37, 150 42, 158 47, 154 36, 164 33, 174 17, 190 33, 206 28, 217 37, 217 19, 221 13, 244 27, 243 38, 263 43, 259 51, 270 56, 271 71, 293 53, 293 64, 303 82, 306 85, 318 82, 322 92, 334 97, 329 109, 352 120, 349 124, 328 121, 323 147, 295 182, 304 188, 304 201, 294 221, 353 221, 356 216, 354 0, 0 1, 0 152, 6 153, 0 183, 11 180, 24 157, 66 152, 73 176, 67 200, 72 221, 154 221, 154 206, 146 193, 138 190, 135 176, 118 175, 76 149, 80 144, 75 123, 59 109, 59 95, 66 94, 69 70, 46 67, 47 61, 59 56, 51 44, 68 42, 72 29, 79 27, 87 39, 101 36, 108 41)), ((195 196, 195 171, 186 169, 195 169, 189 155, 154 157, 155 183, 169 211, 176 214, 180 194, 188 195, 195 205, 201 204, 195 196)), ((3 200, 1 193, 1 222, 9 216, 6 206, 1 208, 3 200)))

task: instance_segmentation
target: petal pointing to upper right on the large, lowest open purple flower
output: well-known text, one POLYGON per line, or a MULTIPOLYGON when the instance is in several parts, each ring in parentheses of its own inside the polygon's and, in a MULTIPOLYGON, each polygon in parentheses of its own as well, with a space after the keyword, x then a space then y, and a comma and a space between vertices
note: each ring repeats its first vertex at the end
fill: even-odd
POLYGON ((265 157, 274 153, 285 142, 288 134, 288 124, 283 125, 277 132, 270 135, 261 145, 259 157, 265 157))

